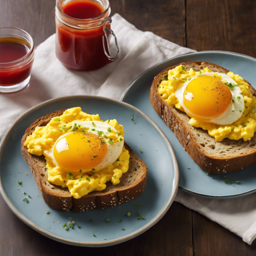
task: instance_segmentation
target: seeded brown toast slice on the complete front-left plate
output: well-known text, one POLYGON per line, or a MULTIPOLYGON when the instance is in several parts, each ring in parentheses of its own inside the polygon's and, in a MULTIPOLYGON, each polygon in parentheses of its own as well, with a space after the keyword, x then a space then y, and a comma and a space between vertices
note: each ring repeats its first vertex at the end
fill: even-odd
POLYGON ((94 191, 79 199, 71 196, 68 188, 54 185, 48 182, 48 169, 44 155, 36 156, 30 154, 24 146, 26 137, 32 134, 35 127, 45 126, 52 117, 60 116, 64 110, 56 111, 43 116, 33 122, 27 128, 21 140, 21 153, 29 165, 35 178, 41 195, 52 209, 70 210, 73 212, 84 212, 92 209, 105 209, 130 201, 139 196, 145 189, 147 180, 147 166, 125 143, 125 148, 129 151, 129 169, 120 178, 118 185, 107 182, 107 187, 102 191, 94 191))

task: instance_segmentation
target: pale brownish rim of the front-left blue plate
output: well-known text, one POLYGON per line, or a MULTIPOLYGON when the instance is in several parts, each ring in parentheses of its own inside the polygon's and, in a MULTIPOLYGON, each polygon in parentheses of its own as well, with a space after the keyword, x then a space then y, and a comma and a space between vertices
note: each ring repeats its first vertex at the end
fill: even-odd
POLYGON ((157 128, 159 130, 159 132, 162 135, 163 139, 166 141, 166 144, 167 144, 167 146, 169 148, 169 151, 170 151, 170 153, 172 155, 172 159, 173 159, 173 163, 174 163, 174 180, 172 182, 172 184, 173 184, 173 193, 172 193, 171 197, 169 198, 168 203, 163 208, 163 210, 160 211, 157 214, 157 216, 153 220, 151 220, 148 224, 146 224, 145 226, 141 227, 140 229, 134 231, 133 233, 131 233, 131 234, 127 235, 127 236, 122 236, 121 238, 112 239, 112 240, 109 240, 109 241, 82 242, 82 241, 74 241, 74 240, 70 240, 70 239, 65 239, 65 238, 62 238, 60 236, 53 235, 49 231, 44 230, 43 228, 39 227, 37 224, 35 224, 33 221, 29 220, 29 218, 27 218, 21 212, 19 212, 18 209, 12 204, 11 200, 8 198, 8 196, 6 195, 6 193, 5 193, 4 189, 3 189, 3 184, 2 184, 2 181, 1 181, 1 170, 0 170, 0 193, 1 193, 4 201, 8 205, 8 207, 11 209, 11 211, 21 221, 23 221, 25 224, 27 224, 29 227, 31 227, 33 230, 37 231, 38 233, 42 234, 43 236, 46 236, 46 237, 48 237, 50 239, 53 239, 55 241, 58 241, 58 242, 61 242, 61 243, 64 243, 64 244, 70 244, 70 245, 76 245, 76 246, 82 246, 82 247, 106 247, 106 246, 111 246, 111 245, 119 244, 119 243, 122 243, 124 241, 128 241, 130 239, 133 239, 136 236, 139 236, 140 234, 144 233, 146 230, 148 230, 149 228, 154 226, 154 224, 156 224, 158 221, 160 221, 160 219, 163 218, 163 216, 166 214, 166 212, 168 211, 168 209, 172 205, 172 203, 174 201, 174 198, 175 198, 175 196, 177 194, 177 190, 178 190, 179 168, 178 168, 178 164, 177 164, 177 158, 176 158, 176 155, 175 155, 175 153, 173 151, 172 145, 169 142, 169 140, 167 139, 166 135, 163 133, 163 131, 157 126, 157 124, 149 116, 147 116, 145 113, 140 111, 138 108, 136 108, 136 107, 134 107, 134 106, 132 106, 132 105, 126 103, 126 102, 122 102, 122 101, 119 101, 119 100, 116 100, 116 99, 110 99, 110 98, 106 98, 106 97, 102 97, 102 96, 92 96, 92 95, 62 96, 62 97, 53 98, 53 99, 49 99, 47 101, 41 102, 38 105, 35 105, 32 108, 29 108, 26 112, 24 112, 22 115, 17 117, 17 119, 12 123, 12 125, 6 131, 6 134, 4 135, 3 139, 0 142, 0 162, 1 162, 2 154, 3 154, 3 150, 5 148, 6 142, 9 139, 10 135, 12 134, 13 128, 26 115, 28 115, 29 113, 32 113, 32 112, 38 110, 38 108, 41 108, 41 107, 43 107, 45 105, 48 105, 48 104, 50 104, 52 102, 57 102, 57 101, 61 101, 61 100, 64 100, 64 99, 69 100, 69 99, 76 99, 76 98, 98 99, 98 100, 102 100, 104 102, 117 103, 119 105, 125 106, 126 108, 132 108, 135 111, 138 111, 140 114, 142 114, 145 119, 147 119, 149 122, 151 122, 151 124, 155 128, 157 128))

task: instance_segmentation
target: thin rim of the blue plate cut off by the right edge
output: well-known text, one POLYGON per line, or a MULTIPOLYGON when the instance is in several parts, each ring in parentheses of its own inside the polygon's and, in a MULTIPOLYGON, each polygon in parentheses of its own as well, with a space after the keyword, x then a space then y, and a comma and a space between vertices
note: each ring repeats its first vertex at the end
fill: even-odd
MULTIPOLYGON (((201 54, 201 53, 224 53, 224 54, 231 54, 231 55, 241 55, 241 56, 244 56, 244 57, 247 57, 247 58, 250 58, 250 59, 253 59, 254 61, 256 61, 256 58, 251 57, 251 56, 246 55, 246 54, 243 54, 243 53, 221 51, 221 50, 205 50, 205 51, 199 51, 199 52, 187 52, 187 53, 184 53, 184 54, 176 55, 176 56, 174 56, 172 58, 169 58, 169 59, 167 59, 165 61, 161 61, 160 63, 150 67, 145 72, 140 74, 140 76, 138 76, 136 79, 134 79, 134 81, 132 81, 131 84, 126 88, 126 90, 124 91, 124 93, 122 94, 122 96, 120 98, 120 101, 125 102, 125 98, 126 98, 128 92, 131 90, 131 88, 134 86, 134 84, 137 82, 137 80, 139 80, 142 76, 145 76, 146 73, 148 73, 151 69, 154 69, 155 67, 157 67, 157 66, 159 66, 159 65, 161 65, 161 64, 163 64, 165 62, 168 62, 168 61, 170 61, 172 59, 178 58, 180 56, 184 56, 184 55, 197 55, 197 54, 201 54)), ((220 195, 220 196, 217 196, 217 195, 205 195, 205 194, 202 194, 202 193, 198 193, 198 192, 192 191, 190 189, 186 189, 185 187, 180 186, 180 185, 179 185, 179 190, 183 191, 183 192, 186 192, 186 193, 188 193, 190 195, 196 195, 196 196, 201 197, 201 198, 211 198, 211 199, 239 198, 239 197, 242 197, 242 196, 245 196, 245 195, 250 195, 250 194, 256 192, 256 188, 255 188, 255 189, 248 190, 246 192, 242 192, 242 193, 238 193, 238 194, 232 194, 232 195, 220 195)))

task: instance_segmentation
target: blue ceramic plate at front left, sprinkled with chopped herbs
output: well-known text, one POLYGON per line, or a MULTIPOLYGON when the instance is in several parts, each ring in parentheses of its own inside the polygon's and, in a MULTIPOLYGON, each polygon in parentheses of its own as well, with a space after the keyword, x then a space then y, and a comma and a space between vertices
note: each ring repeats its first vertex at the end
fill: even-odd
POLYGON ((0 192, 4 200, 12 212, 34 230, 66 244, 109 246, 140 235, 169 209, 178 189, 178 179, 172 146, 157 125, 137 108, 103 97, 70 96, 43 102, 20 116, 0 145, 0 192), (124 126, 125 142, 148 166, 147 185, 142 195, 110 209, 81 213, 53 210, 45 204, 20 153, 20 141, 26 128, 39 117, 76 106, 88 113, 99 113, 103 120, 117 119, 124 126), (134 121, 131 120, 132 115, 134 121), (22 181, 22 187, 18 181, 22 181), (26 195, 22 195, 23 192, 26 195), (23 198, 28 198, 29 202, 23 198), (46 214, 47 210, 49 214, 46 214), (126 210, 131 212, 130 217, 127 217, 126 210), (137 219, 138 210, 143 219, 137 219), (118 222, 120 218, 122 222, 118 222), (75 221, 73 230, 69 228, 66 231, 62 227, 68 221, 75 221))

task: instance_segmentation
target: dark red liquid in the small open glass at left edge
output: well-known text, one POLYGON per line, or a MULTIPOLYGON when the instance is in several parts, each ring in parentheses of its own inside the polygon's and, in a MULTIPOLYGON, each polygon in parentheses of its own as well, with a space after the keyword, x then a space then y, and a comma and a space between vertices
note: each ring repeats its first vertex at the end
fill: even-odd
POLYGON ((20 38, 0 38, 0 64, 5 66, 4 68, 0 67, 1 86, 19 84, 30 76, 33 61, 16 67, 10 64, 9 67, 9 62, 17 61, 29 51, 27 42, 20 38))

